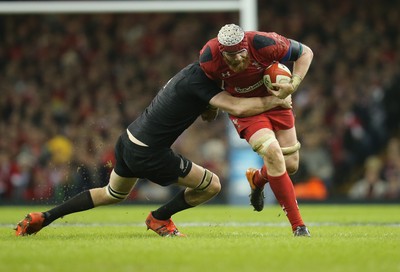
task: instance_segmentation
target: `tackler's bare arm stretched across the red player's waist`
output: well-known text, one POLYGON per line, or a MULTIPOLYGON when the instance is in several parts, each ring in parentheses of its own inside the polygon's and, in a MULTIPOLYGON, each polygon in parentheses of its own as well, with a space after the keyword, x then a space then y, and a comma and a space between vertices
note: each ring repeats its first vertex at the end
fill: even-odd
POLYGON ((275 107, 291 108, 292 99, 280 99, 275 96, 240 98, 222 91, 210 100, 211 107, 219 108, 237 117, 260 114, 275 107))

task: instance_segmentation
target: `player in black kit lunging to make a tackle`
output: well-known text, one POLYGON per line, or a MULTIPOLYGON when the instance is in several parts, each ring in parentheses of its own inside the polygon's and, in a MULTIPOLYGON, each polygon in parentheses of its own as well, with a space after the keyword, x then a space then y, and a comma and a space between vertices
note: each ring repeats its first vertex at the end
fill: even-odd
POLYGON ((216 174, 175 153, 171 145, 199 116, 211 121, 218 109, 235 116, 251 116, 276 106, 290 108, 291 100, 233 97, 208 79, 198 63, 192 63, 161 88, 119 137, 116 163, 107 186, 81 192, 48 211, 29 213, 17 224, 16 235, 36 234, 67 214, 121 202, 139 178, 146 178, 161 186, 183 187, 168 203, 149 213, 147 228, 160 236, 185 236, 171 216, 210 200, 221 184, 216 174))

